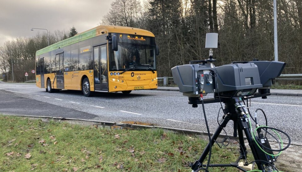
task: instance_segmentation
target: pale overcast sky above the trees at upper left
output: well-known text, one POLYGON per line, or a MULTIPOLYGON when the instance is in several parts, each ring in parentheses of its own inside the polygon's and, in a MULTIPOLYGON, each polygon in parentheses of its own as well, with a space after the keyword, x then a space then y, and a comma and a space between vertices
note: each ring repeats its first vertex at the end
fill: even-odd
POLYGON ((70 30, 78 33, 97 26, 113 0, 0 0, 0 46, 17 37, 31 37, 31 28, 70 30))

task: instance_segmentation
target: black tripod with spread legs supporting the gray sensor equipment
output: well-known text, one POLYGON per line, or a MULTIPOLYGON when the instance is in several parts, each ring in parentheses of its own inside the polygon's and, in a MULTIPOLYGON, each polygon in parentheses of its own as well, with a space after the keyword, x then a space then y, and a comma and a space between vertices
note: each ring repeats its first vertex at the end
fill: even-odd
MULTIPOLYGON (((268 159, 266 154, 263 153, 260 150, 260 148, 256 145, 255 141, 252 140, 249 119, 247 117, 248 110, 245 108, 245 105, 243 104, 242 99, 243 99, 242 97, 222 99, 223 103, 225 104, 226 115, 223 116, 220 126, 217 127, 215 133, 211 137, 211 143, 213 145, 215 143, 216 139, 218 138, 219 134, 221 133, 222 129, 224 127, 226 127, 226 124, 228 123, 228 121, 230 121, 230 120, 234 121, 234 137, 237 137, 237 131, 238 131, 239 144, 240 144, 240 156, 236 162, 232 162, 230 164, 209 164, 209 167, 236 167, 242 171, 247 171, 247 170, 243 169, 242 166, 240 167, 238 165, 239 161, 241 159, 246 159, 246 155, 247 155, 246 147, 244 144, 244 138, 243 138, 243 131, 244 131, 245 136, 249 142, 251 151, 253 153, 255 162, 258 166, 258 169, 262 170, 262 171, 266 171, 266 170, 273 171, 273 170, 275 170, 275 168, 272 166, 273 160, 268 159)), ((212 103, 212 102, 210 102, 210 103, 212 103)), ((256 138, 256 139, 258 139, 258 138, 256 138)), ((193 171, 196 171, 199 168, 207 166, 206 164, 203 164, 203 162, 204 162, 204 159, 206 158, 206 156, 208 155, 209 151, 210 151, 210 142, 204 149, 199 160, 197 160, 194 164, 190 165, 190 167, 193 171)), ((245 165, 248 165, 248 163, 245 162, 245 165)))

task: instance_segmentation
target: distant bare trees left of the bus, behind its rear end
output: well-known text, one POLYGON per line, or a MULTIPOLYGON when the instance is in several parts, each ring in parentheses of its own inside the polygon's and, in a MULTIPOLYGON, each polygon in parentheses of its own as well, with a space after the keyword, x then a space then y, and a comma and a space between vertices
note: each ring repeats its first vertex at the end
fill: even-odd
POLYGON ((69 32, 56 30, 54 33, 36 34, 33 37, 18 37, 15 40, 6 41, 0 47, 0 73, 4 81, 25 82, 25 72, 28 73, 27 80, 35 80, 35 74, 31 70, 36 70, 36 51, 45 48, 49 44, 54 44, 77 34, 73 26, 69 32), (13 78, 14 77, 14 78, 13 78))

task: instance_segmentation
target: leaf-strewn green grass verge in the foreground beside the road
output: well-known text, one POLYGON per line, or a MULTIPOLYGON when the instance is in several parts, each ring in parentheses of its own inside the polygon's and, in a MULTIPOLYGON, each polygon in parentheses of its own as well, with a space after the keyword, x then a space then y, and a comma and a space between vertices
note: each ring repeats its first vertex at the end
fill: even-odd
MULTIPOLYGON (((2 115, 0 133, 0 171, 191 171, 189 162, 207 144, 161 129, 108 130, 2 115)), ((211 163, 233 162, 237 152, 215 144, 211 163)))

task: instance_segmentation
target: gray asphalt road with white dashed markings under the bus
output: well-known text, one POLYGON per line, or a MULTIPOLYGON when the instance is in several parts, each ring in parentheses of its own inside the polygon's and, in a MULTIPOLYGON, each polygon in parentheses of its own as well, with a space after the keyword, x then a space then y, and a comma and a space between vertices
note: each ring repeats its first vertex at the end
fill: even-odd
MULTIPOLYGON (((212 98, 207 95, 205 98, 212 98)), ((206 131, 201 105, 192 108, 187 97, 177 91, 137 90, 131 94, 97 93, 85 97, 81 91, 62 90, 47 93, 45 89, 28 84, 0 83, 0 113, 56 116, 91 119, 98 121, 139 121, 157 126, 206 131)), ((261 108, 268 118, 268 126, 288 133, 292 142, 302 144, 302 97, 268 96, 267 99, 252 99, 250 112, 261 108)), ((219 103, 205 104, 210 132, 215 132, 219 103)), ((265 124, 261 112, 257 113, 260 124, 265 124)), ((222 112, 220 112, 219 121, 222 112)), ((232 121, 226 127, 232 135, 232 121)), ((282 137, 283 138, 283 137, 282 137)), ((286 142, 286 140, 285 140, 286 142)))

